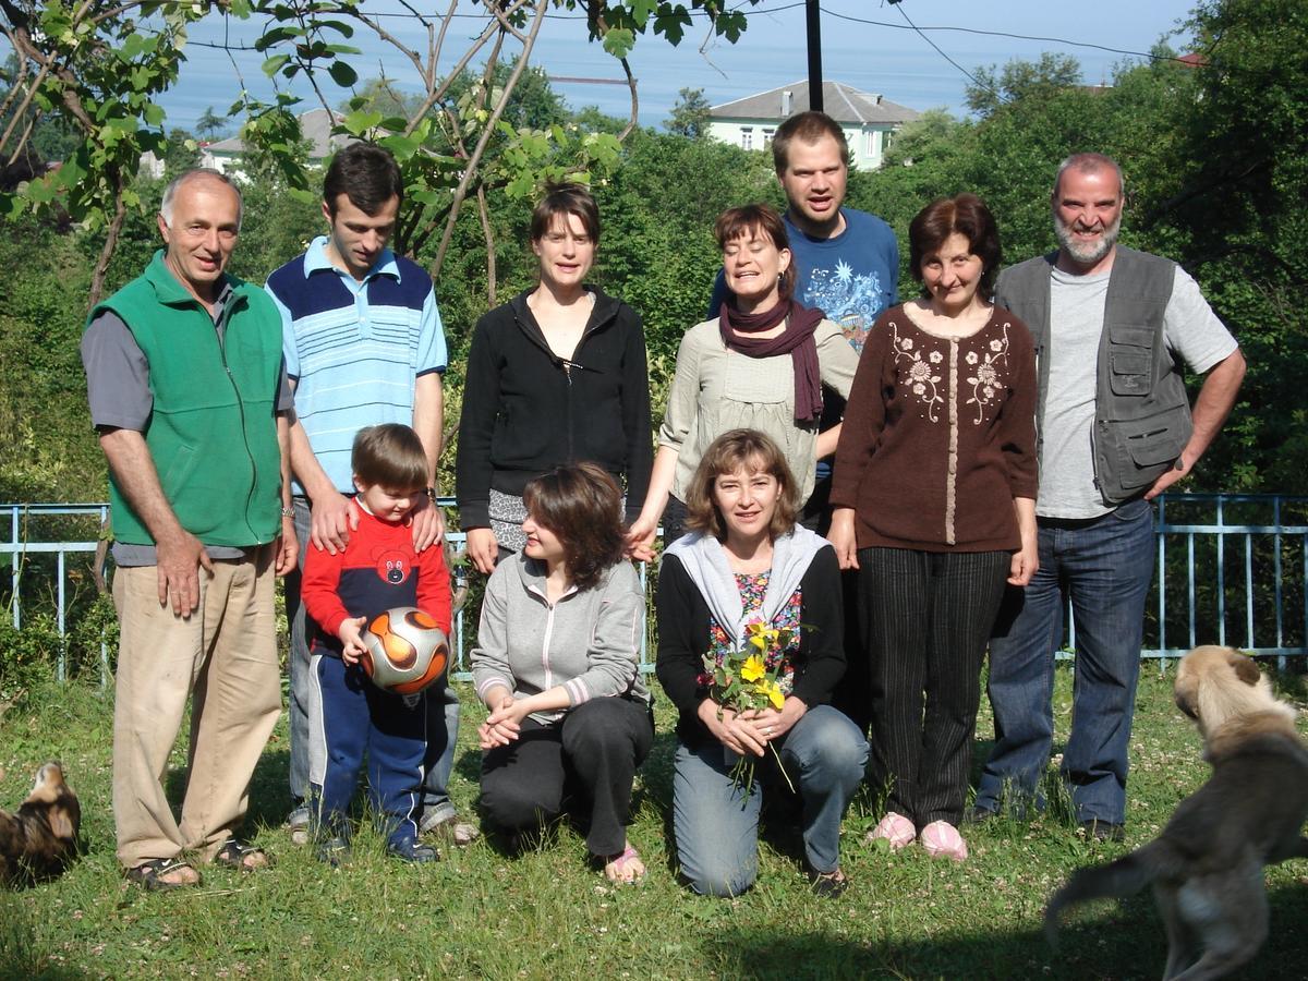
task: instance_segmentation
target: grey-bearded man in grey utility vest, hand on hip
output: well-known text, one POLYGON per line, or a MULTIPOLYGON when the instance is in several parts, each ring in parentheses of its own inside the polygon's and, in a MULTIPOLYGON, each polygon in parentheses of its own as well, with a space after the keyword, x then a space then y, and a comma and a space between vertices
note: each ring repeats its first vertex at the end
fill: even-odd
POLYGON ((995 743, 969 816, 1036 797, 1053 738, 1053 654, 1076 621, 1062 776, 1076 820, 1120 840, 1126 757, 1154 576, 1150 501, 1190 472, 1222 428, 1244 357, 1176 263, 1117 245, 1122 173, 1099 153, 1063 161, 1057 252, 1006 269, 995 302, 1036 340, 1040 569, 1005 599, 990 645, 995 743), (1207 374, 1192 413, 1182 362, 1207 374))

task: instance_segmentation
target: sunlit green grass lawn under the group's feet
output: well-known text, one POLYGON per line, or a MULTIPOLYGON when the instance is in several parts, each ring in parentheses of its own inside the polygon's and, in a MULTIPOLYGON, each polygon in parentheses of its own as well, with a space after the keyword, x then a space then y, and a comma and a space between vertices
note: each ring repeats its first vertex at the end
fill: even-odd
MULTIPOLYGON (((678 883, 666 702, 630 831, 650 866, 641 887, 607 886, 566 827, 517 858, 483 838, 424 867, 387 859, 365 832, 351 865, 332 871, 280 827, 283 723, 251 793, 256 841, 276 867, 207 869, 201 888, 145 893, 114 859, 109 700, 78 684, 42 688, 0 718, 0 802, 13 807, 37 765, 61 759, 82 802, 85 854, 54 883, 0 892, 0 978, 1156 978, 1164 940, 1148 896, 1074 913, 1057 952, 1040 918, 1073 869, 1152 837, 1203 781, 1199 739, 1172 706, 1171 681, 1144 667, 1125 845, 1087 842, 1050 814, 965 832, 972 858, 961 866, 917 848, 892 855, 862 844, 879 816, 869 797, 845 821, 842 865, 854 884, 835 903, 810 895, 791 828, 765 829, 759 884, 736 900, 700 899, 678 883)), ((1303 678, 1281 688, 1300 706, 1308 700, 1303 678)), ((470 692, 464 704, 451 791, 471 814, 479 751, 467 740, 481 713, 470 692)), ((1071 672, 1061 667, 1059 734, 1070 712, 1071 672)), ((978 732, 990 731, 982 706, 978 732)), ((988 748, 978 743, 978 760, 988 748)), ((174 765, 179 790, 182 749, 174 765)), ((1267 883, 1271 939, 1243 977, 1304 977, 1308 862, 1270 870, 1267 883)))

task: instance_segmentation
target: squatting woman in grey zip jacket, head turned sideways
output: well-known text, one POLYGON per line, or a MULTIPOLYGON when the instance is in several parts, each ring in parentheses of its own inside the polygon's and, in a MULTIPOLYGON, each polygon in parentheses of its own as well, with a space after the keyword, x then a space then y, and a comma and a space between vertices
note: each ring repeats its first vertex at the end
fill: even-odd
POLYGON ((472 679, 489 715, 481 806, 535 831, 573 798, 586 848, 612 882, 645 878, 627 840, 636 768, 654 742, 638 667, 645 591, 623 559, 621 492, 595 463, 556 467, 523 490, 522 552, 487 581, 472 679))

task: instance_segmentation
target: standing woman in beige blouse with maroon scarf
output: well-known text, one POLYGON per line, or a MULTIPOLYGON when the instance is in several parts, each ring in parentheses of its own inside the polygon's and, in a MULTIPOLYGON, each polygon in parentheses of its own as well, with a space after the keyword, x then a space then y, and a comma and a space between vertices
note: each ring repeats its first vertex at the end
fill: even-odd
POLYGON ((659 518, 664 542, 680 536, 695 468, 729 429, 769 436, 795 475, 799 501, 807 501, 818 460, 835 453, 840 438, 838 425, 818 432, 821 386, 848 396, 858 369, 858 354, 840 327, 791 298, 790 239, 774 209, 729 208, 718 216, 714 237, 735 300, 715 319, 687 331, 676 352, 649 492, 628 532, 640 559, 654 555, 659 518))

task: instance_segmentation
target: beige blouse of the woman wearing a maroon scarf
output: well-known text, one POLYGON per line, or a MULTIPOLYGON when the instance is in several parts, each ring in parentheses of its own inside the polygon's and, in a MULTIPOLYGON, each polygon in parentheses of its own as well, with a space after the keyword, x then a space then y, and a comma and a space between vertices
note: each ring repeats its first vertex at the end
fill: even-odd
MULTIPOLYGON (((858 354, 840 326, 821 320, 814 331, 823 385, 849 396, 858 354)), ((790 354, 749 357, 722 343, 718 318, 697 323, 681 337, 659 445, 678 451, 672 496, 685 500, 695 468, 709 443, 730 429, 757 429, 786 458, 799 500, 814 489, 818 424, 795 422, 795 371, 790 354)))

